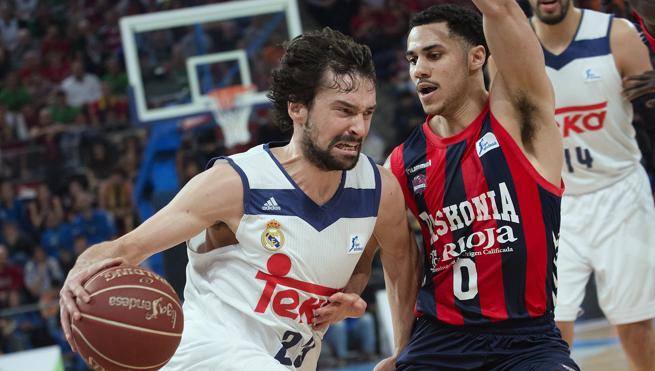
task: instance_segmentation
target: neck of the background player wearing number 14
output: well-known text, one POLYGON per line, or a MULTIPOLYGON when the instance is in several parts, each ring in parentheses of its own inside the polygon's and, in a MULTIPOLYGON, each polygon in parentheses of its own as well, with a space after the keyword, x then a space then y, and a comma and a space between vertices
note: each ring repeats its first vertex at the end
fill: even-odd
POLYGON ((558 24, 546 24, 537 17, 530 21, 541 44, 551 53, 558 55, 573 41, 582 18, 582 12, 576 7, 569 10, 566 17, 558 24))

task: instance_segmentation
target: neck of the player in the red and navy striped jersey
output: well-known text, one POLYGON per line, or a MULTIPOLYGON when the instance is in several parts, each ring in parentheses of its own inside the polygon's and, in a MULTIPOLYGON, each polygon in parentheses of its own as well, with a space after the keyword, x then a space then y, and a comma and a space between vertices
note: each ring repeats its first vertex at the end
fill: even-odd
MULTIPOLYGON (((452 137, 464 131, 480 115, 487 103, 489 95, 484 87, 467 97, 474 97, 464 100, 456 105, 452 111, 442 112, 430 118, 430 130, 442 138, 452 137)), ((455 105, 453 105, 455 106, 455 105)))

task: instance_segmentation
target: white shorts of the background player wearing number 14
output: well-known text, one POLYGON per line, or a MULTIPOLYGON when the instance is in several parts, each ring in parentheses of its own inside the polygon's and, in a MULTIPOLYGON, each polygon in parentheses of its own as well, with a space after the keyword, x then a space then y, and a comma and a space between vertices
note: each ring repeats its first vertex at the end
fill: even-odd
POLYGON ((557 321, 577 318, 592 272, 610 323, 655 318, 655 207, 641 166, 605 189, 562 198, 557 321))

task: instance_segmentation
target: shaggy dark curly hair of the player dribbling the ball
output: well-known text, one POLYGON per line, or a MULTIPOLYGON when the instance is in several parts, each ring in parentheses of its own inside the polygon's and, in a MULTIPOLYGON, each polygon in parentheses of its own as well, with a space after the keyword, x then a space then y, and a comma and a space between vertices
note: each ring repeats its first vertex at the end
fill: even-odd
POLYGON ((357 88, 357 77, 375 83, 375 67, 368 46, 329 27, 297 36, 285 45, 284 56, 272 72, 266 95, 273 103, 275 122, 282 131, 293 128, 287 111, 289 102, 311 107, 321 87, 349 92, 357 88), (335 75, 332 83, 323 81, 328 70, 335 75))

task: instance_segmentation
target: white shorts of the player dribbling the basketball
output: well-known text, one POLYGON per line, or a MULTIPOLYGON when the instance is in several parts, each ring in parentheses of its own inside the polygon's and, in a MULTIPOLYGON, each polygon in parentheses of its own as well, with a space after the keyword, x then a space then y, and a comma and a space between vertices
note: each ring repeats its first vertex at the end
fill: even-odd
MULTIPOLYGON (((197 313, 197 312, 196 312, 197 313)), ((260 344, 249 341, 247 329, 225 322, 214 323, 201 316, 188 315, 185 307, 182 341, 162 371, 315 371, 321 341, 307 353, 302 368, 283 366, 260 344)))

